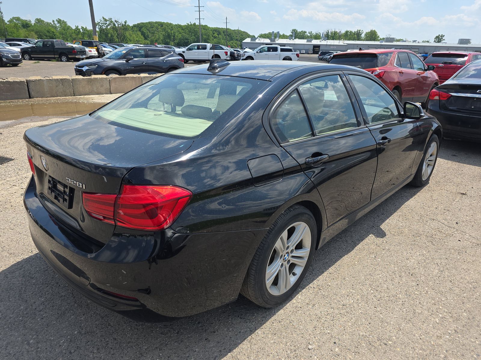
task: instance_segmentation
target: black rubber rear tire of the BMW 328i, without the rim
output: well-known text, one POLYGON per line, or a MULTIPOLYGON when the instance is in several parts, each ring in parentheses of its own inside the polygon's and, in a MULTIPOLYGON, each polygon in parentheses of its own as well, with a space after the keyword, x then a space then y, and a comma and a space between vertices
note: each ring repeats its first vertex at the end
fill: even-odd
MULTIPOLYGON (((274 221, 274 224, 272 224, 272 226, 269 228, 269 230, 266 233, 266 236, 264 237, 259 247, 257 248, 257 251, 253 256, 251 264, 249 265, 249 269, 247 270, 247 273, 245 275, 244 282, 242 283, 241 294, 244 295, 247 299, 253 301, 255 304, 262 307, 266 307, 266 308, 277 306, 280 303, 289 299, 291 295, 299 287, 299 285, 302 283, 304 276, 307 273, 307 269, 312 263, 312 259, 314 257, 314 252, 316 249, 316 240, 317 240, 316 220, 314 219, 314 216, 311 214, 309 210, 307 210, 304 206, 300 206, 300 205, 293 205, 287 210, 285 210, 276 219, 276 221, 274 221), (302 269, 302 273, 299 275, 295 283, 291 285, 291 288, 289 288, 286 292, 284 292, 281 295, 273 295, 271 292, 267 290, 266 269, 269 262, 272 263, 273 261, 274 246, 276 245, 276 242, 278 241, 281 234, 286 229, 290 229, 291 228, 290 225, 293 225, 294 223, 299 221, 304 222, 311 231, 311 245, 310 245, 310 252, 307 258, 307 262, 305 263, 305 266, 302 269)), ((291 249, 291 252, 292 250, 294 249, 291 249)), ((285 263, 285 264, 289 264, 289 263, 285 263)), ((292 264, 293 263, 291 263, 291 265, 292 264)), ((290 266, 290 265, 287 265, 287 266, 290 266)), ((290 269, 290 268, 288 267, 287 269, 290 269)), ((297 274, 295 274, 293 270, 289 276, 291 276, 292 274, 294 276, 297 276, 297 274)))

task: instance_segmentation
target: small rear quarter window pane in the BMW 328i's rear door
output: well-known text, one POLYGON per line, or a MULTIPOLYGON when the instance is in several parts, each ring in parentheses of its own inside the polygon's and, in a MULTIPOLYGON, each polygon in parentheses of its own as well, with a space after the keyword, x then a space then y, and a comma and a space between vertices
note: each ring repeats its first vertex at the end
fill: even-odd
POLYGON ((271 123, 281 143, 312 136, 311 125, 297 90, 276 108, 271 123))

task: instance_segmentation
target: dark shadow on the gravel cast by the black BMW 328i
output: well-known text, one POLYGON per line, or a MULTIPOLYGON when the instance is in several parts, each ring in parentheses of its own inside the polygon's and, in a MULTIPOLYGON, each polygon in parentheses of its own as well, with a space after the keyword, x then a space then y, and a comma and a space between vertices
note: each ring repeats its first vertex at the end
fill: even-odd
MULTIPOLYGON (((381 225, 418 191, 402 188, 325 244, 296 294, 367 237, 386 237, 381 225)), ((286 306, 264 309, 240 296, 173 322, 137 323, 79 296, 38 253, 0 272, 0 294, 4 359, 221 359, 286 306)))

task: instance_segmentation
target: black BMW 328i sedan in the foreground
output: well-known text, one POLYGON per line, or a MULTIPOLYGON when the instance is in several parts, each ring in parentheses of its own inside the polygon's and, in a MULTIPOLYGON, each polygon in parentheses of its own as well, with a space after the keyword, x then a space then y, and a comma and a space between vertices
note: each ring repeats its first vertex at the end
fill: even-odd
POLYGON ((215 59, 27 130, 24 203, 47 263, 108 309, 272 307, 329 239, 427 184, 441 138, 363 70, 215 59))

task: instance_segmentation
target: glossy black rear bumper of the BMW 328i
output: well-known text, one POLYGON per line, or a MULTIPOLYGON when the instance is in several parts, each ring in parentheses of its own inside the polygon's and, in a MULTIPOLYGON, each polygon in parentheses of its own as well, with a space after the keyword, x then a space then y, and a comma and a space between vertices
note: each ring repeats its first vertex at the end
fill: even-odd
POLYGON ((190 316, 236 300, 267 231, 114 233, 100 251, 85 253, 75 246, 78 235, 43 206, 33 177, 24 205, 38 252, 68 284, 105 308, 147 322, 190 316))

